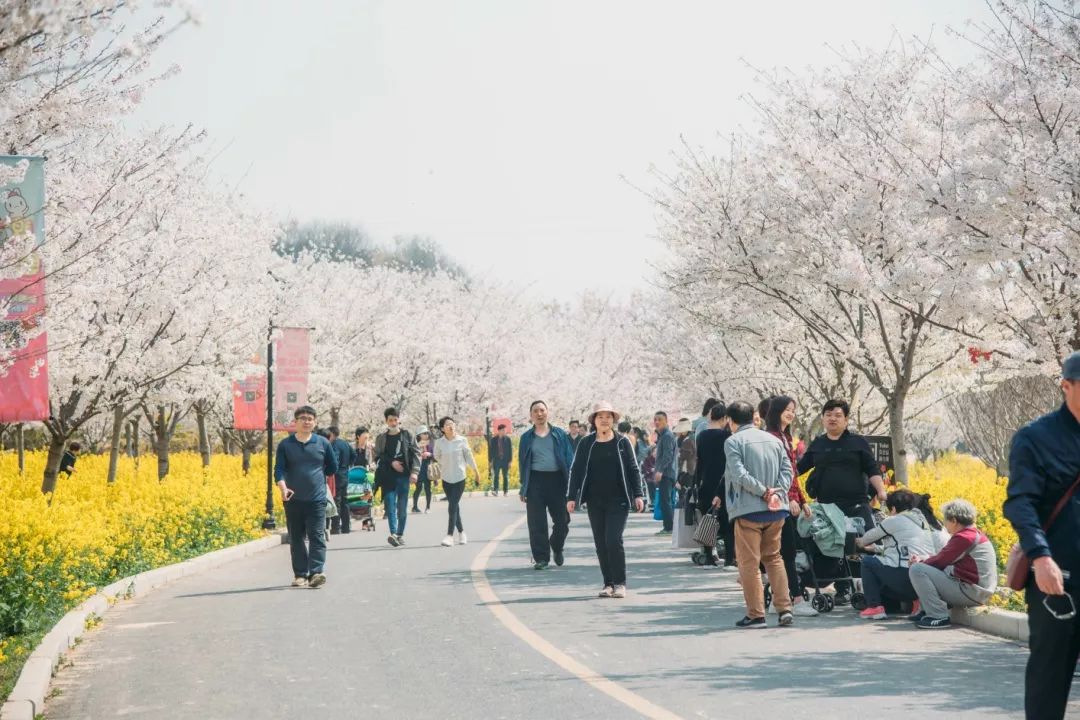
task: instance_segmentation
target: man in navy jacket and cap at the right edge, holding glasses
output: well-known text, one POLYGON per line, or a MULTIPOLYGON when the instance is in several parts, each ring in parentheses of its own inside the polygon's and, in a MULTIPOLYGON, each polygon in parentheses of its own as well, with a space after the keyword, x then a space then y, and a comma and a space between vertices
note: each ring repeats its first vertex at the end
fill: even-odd
POLYGON ((1027 622, 1031 654, 1024 679, 1028 720, 1065 717, 1080 656, 1080 352, 1062 367, 1059 409, 1022 427, 1009 453, 1004 515, 1031 560, 1027 622), (1053 525, 1043 530, 1063 503, 1053 525))

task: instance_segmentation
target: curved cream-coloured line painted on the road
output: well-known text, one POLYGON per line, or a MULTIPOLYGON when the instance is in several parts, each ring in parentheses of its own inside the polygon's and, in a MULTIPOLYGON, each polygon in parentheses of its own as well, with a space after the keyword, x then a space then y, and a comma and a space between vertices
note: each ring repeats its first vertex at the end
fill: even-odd
POLYGON ((619 701, 626 707, 640 712, 646 718, 650 718, 651 720, 683 720, 671 710, 651 703, 637 693, 620 685, 615 680, 609 680, 581 662, 570 657, 548 640, 544 640, 542 637, 537 635, 536 631, 529 629, 525 623, 518 620, 517 615, 511 612, 510 609, 502 603, 502 600, 499 599, 499 596, 495 594, 495 590, 491 588, 491 584, 487 580, 487 561, 491 558, 491 555, 495 554, 499 543, 514 534, 514 532, 522 527, 527 519, 527 516, 522 516, 516 521, 511 522, 502 532, 492 538, 473 560, 472 579, 480 599, 484 601, 484 604, 486 604, 488 610, 491 611, 491 614, 498 617, 499 622, 502 623, 508 630, 516 635, 530 648, 562 667, 570 675, 577 676, 594 689, 619 701))

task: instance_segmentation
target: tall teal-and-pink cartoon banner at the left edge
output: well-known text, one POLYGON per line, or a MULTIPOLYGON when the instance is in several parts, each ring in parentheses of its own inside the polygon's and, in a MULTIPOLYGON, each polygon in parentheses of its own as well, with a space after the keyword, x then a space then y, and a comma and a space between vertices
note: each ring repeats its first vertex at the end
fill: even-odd
POLYGON ((44 160, 0 155, 0 422, 49 418, 44 206, 44 160))

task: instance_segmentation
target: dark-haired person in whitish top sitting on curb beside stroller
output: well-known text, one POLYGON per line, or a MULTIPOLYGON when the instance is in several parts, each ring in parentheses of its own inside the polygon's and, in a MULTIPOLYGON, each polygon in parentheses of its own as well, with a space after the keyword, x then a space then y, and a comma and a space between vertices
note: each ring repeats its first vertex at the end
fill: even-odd
POLYGON ((917 597, 908 575, 910 557, 928 557, 936 549, 933 528, 918 507, 921 499, 910 490, 890 492, 885 501, 889 516, 855 540, 860 547, 880 548, 880 555, 862 561, 866 609, 859 616, 864 620, 885 620, 885 595, 905 602, 917 597))

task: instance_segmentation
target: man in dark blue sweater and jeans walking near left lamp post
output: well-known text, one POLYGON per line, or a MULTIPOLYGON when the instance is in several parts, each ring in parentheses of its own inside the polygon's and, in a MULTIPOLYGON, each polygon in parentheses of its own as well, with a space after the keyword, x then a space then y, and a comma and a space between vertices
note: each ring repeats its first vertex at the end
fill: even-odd
POLYGON ((314 433, 314 408, 298 407, 293 417, 296 432, 278 445, 273 476, 285 506, 293 586, 321 587, 326 582, 326 478, 337 473, 337 459, 329 440, 314 433))

